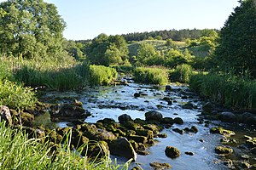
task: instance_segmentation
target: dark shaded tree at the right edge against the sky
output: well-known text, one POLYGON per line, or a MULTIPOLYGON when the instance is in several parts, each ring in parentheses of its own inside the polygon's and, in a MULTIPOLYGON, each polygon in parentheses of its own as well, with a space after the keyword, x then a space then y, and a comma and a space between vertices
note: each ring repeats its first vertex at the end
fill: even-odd
POLYGON ((224 71, 250 71, 256 77, 256 3, 240 1, 220 31, 216 60, 224 71))

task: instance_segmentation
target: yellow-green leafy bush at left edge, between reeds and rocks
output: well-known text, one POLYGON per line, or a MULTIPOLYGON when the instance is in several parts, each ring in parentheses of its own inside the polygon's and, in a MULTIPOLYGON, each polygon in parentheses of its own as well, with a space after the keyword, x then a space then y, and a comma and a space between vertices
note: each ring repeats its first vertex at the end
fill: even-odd
POLYGON ((9 80, 0 81, 0 105, 13 109, 24 109, 35 104, 37 99, 32 88, 23 88, 9 80))

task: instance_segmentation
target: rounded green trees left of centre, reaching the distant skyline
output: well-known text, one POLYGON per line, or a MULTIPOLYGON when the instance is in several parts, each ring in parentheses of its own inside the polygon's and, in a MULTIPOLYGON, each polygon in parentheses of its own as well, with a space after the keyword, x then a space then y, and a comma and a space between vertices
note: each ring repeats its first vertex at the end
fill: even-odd
POLYGON ((91 64, 122 64, 128 59, 128 48, 124 37, 100 34, 88 45, 86 55, 91 64))

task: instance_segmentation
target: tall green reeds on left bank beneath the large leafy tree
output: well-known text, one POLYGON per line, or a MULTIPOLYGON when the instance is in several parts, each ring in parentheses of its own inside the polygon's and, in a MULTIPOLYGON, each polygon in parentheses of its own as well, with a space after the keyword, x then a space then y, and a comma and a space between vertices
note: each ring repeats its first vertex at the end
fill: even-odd
POLYGON ((1 60, 13 72, 16 81, 32 87, 46 86, 55 90, 83 88, 88 77, 89 65, 69 56, 37 60, 2 57, 1 60))

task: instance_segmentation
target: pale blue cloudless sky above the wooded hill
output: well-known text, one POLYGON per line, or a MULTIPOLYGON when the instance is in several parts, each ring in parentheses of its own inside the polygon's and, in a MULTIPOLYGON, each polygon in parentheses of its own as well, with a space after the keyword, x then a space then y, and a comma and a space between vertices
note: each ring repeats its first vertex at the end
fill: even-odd
MULTIPOLYGON (((45 0, 67 23, 64 37, 171 29, 220 29, 238 0, 45 0)), ((0 0, 3 2, 3 0, 0 0)))

